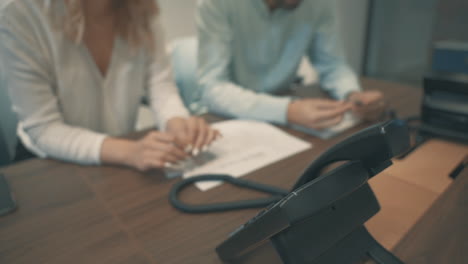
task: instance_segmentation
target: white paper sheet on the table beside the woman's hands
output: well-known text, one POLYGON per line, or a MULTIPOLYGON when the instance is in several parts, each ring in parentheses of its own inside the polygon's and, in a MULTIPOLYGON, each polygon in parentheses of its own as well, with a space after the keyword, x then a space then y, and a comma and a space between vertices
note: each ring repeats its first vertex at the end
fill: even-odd
MULTIPOLYGON (((213 124, 223 137, 210 150, 185 166, 183 177, 200 174, 229 174, 243 176, 256 169, 309 149, 309 142, 287 134, 264 122, 229 120, 213 124)), ((206 191, 220 182, 199 182, 206 191)))

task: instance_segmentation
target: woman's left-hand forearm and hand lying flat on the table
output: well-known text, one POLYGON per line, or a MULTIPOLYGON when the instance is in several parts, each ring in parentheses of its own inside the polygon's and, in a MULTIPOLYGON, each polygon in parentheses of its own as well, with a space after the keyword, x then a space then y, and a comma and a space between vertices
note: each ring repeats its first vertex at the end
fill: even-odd
POLYGON ((101 160, 140 171, 171 167, 188 157, 175 143, 175 136, 158 131, 151 131, 137 141, 108 137, 101 147, 101 160))

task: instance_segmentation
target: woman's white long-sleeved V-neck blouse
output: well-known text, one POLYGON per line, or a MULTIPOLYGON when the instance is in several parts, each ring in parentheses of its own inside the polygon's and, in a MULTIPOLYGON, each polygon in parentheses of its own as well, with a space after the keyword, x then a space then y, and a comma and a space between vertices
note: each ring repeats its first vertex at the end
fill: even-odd
POLYGON ((116 38, 101 74, 84 44, 56 30, 47 0, 9 1, 0 13, 0 54, 23 144, 40 157, 99 164, 107 135, 133 131, 141 98, 148 96, 159 127, 189 115, 174 84, 162 29, 156 51, 134 51, 116 38))

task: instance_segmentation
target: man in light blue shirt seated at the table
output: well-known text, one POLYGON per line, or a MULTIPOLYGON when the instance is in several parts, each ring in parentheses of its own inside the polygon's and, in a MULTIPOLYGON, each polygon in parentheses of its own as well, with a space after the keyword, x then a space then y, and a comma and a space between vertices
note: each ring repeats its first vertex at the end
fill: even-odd
POLYGON ((209 110, 313 129, 353 110, 375 118, 382 94, 362 92, 344 59, 330 0, 201 0, 197 11, 198 88, 209 110), (272 95, 296 78, 303 56, 335 100, 272 95))

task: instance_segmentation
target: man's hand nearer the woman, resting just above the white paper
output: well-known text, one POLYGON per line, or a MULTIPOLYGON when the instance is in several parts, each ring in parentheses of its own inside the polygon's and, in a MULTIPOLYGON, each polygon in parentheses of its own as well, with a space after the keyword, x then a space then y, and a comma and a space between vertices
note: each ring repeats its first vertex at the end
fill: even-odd
POLYGON ((344 101, 328 99, 302 99, 288 107, 288 122, 316 130, 334 126, 343 120, 343 115, 352 105, 344 101))

